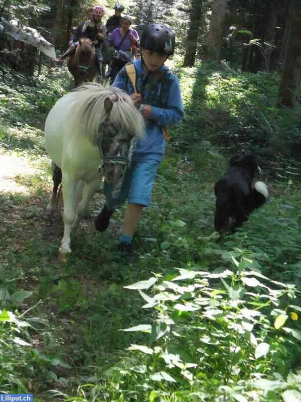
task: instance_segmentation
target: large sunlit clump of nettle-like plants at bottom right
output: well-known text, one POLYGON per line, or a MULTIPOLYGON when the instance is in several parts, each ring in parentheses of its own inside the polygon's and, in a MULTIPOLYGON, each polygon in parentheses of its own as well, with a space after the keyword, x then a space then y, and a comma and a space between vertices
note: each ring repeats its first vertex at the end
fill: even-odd
POLYGON ((301 311, 293 304, 294 285, 262 275, 243 251, 217 252, 231 266, 177 268, 174 275, 125 286, 138 291, 142 308, 156 317, 122 330, 149 333, 149 343, 131 345, 127 363, 107 371, 119 395, 114 400, 299 400, 291 395, 301 390, 300 374, 283 380, 290 348, 297 351, 301 340, 287 324, 294 327, 301 311))

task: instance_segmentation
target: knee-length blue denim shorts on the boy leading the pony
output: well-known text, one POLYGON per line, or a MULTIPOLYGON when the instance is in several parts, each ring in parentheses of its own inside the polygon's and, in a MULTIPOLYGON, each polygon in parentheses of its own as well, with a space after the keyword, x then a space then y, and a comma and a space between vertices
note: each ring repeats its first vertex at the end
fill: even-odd
POLYGON ((148 207, 159 165, 158 160, 132 161, 124 172, 120 194, 116 198, 112 197, 114 186, 104 182, 103 193, 107 209, 113 211, 124 204, 126 199, 129 204, 148 207))

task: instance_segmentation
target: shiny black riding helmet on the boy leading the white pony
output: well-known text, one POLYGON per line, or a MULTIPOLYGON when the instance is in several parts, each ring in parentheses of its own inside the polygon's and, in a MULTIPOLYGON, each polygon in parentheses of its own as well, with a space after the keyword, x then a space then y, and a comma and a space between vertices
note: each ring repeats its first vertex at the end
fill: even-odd
POLYGON ((165 25, 149 24, 143 29, 140 37, 140 47, 156 53, 171 56, 175 50, 175 35, 165 25))

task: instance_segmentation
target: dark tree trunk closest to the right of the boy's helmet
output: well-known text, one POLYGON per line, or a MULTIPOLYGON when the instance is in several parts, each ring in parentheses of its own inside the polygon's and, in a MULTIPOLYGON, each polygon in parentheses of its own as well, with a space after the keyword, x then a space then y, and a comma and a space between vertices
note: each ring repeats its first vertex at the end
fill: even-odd
POLYGON ((192 0, 190 11, 190 25, 186 39, 186 52, 183 67, 194 66, 198 46, 198 36, 200 31, 202 16, 202 0, 192 0))

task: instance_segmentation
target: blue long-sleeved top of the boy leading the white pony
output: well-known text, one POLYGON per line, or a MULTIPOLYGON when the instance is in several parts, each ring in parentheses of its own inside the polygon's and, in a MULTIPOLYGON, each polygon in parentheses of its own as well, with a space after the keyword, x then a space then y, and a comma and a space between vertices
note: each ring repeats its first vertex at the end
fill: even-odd
MULTIPOLYGON (((152 110, 146 120, 146 138, 138 142, 132 160, 161 161, 166 144, 161 126, 173 126, 184 117, 179 81, 166 65, 155 73, 144 74, 141 60, 135 60, 133 64, 136 70, 136 91, 142 96, 141 103, 152 106, 152 110)), ((134 92, 125 67, 117 74, 113 86, 128 95, 134 92)))

